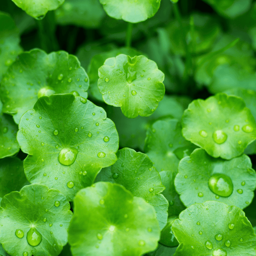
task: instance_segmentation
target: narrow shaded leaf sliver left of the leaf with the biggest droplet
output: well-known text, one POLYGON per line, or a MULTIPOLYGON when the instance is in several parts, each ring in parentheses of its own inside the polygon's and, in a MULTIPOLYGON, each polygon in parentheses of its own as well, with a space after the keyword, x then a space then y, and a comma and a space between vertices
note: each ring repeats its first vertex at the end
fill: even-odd
POLYGON ((176 172, 162 171, 159 172, 163 186, 166 189, 162 192, 164 197, 169 202, 168 215, 179 215, 180 212, 186 209, 186 207, 180 201, 180 196, 177 194, 174 186, 174 179, 176 172))

